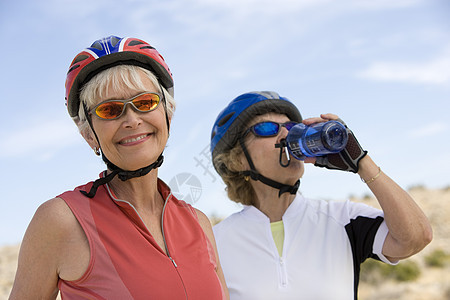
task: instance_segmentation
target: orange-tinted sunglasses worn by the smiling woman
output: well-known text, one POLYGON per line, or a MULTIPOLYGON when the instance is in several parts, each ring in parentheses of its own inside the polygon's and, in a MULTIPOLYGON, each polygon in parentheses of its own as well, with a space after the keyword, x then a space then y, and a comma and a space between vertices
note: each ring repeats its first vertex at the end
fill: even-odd
POLYGON ((97 104, 91 113, 100 119, 115 120, 120 118, 125 111, 125 106, 131 106, 139 112, 149 112, 155 110, 161 102, 161 96, 157 93, 145 92, 134 96, 128 100, 106 100, 97 104))

